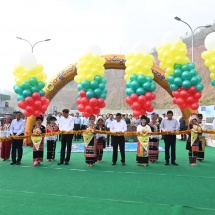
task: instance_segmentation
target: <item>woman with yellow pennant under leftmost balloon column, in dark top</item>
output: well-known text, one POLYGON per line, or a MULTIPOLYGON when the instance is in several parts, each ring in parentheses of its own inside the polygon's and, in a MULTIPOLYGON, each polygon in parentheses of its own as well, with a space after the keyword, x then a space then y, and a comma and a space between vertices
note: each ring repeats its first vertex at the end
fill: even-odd
POLYGON ((33 164, 39 166, 40 162, 43 162, 43 150, 44 150, 44 137, 41 134, 46 133, 46 127, 42 125, 43 117, 36 117, 36 125, 32 129, 32 142, 33 142, 33 164))

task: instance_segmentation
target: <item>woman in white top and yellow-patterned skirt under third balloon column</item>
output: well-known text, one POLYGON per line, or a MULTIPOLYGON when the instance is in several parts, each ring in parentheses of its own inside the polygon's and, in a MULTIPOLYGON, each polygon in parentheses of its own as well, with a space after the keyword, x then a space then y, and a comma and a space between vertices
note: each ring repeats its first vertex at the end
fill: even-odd
POLYGON ((139 166, 148 166, 148 142, 151 128, 146 124, 147 117, 141 116, 141 124, 137 126, 137 132, 143 133, 137 136, 137 163, 139 166))

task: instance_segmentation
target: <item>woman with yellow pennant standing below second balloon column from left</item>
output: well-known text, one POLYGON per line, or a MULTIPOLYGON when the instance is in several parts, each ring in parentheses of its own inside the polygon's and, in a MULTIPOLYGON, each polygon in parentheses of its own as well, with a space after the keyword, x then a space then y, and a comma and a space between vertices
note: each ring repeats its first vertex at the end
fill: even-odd
POLYGON ((97 159, 97 150, 96 150, 96 135, 94 135, 94 130, 96 129, 95 125, 95 116, 90 116, 89 124, 87 125, 86 131, 83 133, 84 136, 84 156, 86 158, 87 166, 93 166, 97 159))

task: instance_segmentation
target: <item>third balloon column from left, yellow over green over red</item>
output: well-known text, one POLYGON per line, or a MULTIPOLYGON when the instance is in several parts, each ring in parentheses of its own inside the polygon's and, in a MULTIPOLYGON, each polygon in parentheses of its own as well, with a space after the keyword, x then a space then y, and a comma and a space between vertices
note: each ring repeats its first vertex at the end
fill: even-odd
POLYGON ((152 100, 155 99, 152 92, 156 89, 151 70, 154 57, 146 52, 133 52, 126 55, 125 59, 126 102, 131 106, 135 117, 144 115, 146 111, 152 112, 152 100))

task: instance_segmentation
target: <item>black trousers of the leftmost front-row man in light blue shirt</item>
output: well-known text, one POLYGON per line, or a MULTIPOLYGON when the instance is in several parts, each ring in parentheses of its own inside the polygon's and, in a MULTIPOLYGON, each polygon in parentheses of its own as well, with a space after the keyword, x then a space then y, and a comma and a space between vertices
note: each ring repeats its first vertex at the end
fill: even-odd
MULTIPOLYGON (((24 134, 20 134, 20 136, 22 135, 24 134)), ((22 154, 23 154, 22 146, 23 146, 23 139, 21 140, 12 139, 11 158, 13 163, 21 162, 22 154), (18 152, 17 158, 16 158, 16 151, 18 152)))

